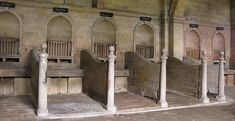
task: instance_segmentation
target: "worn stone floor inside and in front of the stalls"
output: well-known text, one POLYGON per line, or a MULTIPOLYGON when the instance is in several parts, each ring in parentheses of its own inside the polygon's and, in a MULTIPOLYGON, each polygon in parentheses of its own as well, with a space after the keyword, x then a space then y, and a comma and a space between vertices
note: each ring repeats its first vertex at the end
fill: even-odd
MULTIPOLYGON (((52 119, 55 119, 55 121, 70 121, 73 119, 80 120, 81 118, 84 121, 132 120, 132 119, 129 119, 129 117, 132 117, 133 121, 134 119, 136 119, 136 121, 143 121, 143 120, 152 121, 153 119, 158 121, 159 117, 162 117, 160 119, 162 120, 164 119, 164 121, 167 121, 172 118, 164 117, 166 116, 164 115, 165 113, 168 113, 168 112, 173 112, 173 113, 176 112, 175 114, 178 113, 176 110, 172 110, 172 109, 179 109, 180 111, 183 110, 183 112, 185 111, 184 113, 186 114, 189 113, 192 109, 196 109, 199 112, 195 112, 195 111, 192 111, 192 112, 196 114, 203 113, 203 114, 200 114, 203 116, 208 113, 208 112, 205 112, 204 114, 203 111, 208 109, 210 110, 208 115, 211 115, 211 113, 213 112, 214 112, 213 115, 218 115, 217 113, 222 113, 219 115, 224 116, 225 121, 227 121, 227 119, 230 119, 228 121, 233 121, 231 120, 233 118, 235 119, 234 117, 235 105, 234 104, 229 103, 230 106, 225 105, 224 106, 225 108, 224 108, 223 106, 218 105, 221 103, 218 103, 214 98, 213 98, 214 100, 211 101, 212 103, 207 104, 207 105, 202 105, 199 100, 179 94, 179 93, 168 92, 167 95, 168 95, 167 100, 168 100, 170 107, 166 109, 162 109, 153 99, 134 95, 130 92, 123 92, 123 93, 116 94, 115 96, 116 105, 117 105, 117 109, 119 110, 118 114, 116 115, 111 115, 110 113, 108 113, 101 105, 99 105, 99 103, 95 102, 94 100, 86 96, 85 94, 54 95, 54 96, 49 96, 48 98, 49 99, 48 107, 49 107, 50 114, 48 115, 48 117, 44 117, 44 118, 41 118, 41 117, 39 118, 36 116, 35 108, 33 107, 29 96, 0 97, 0 112, 1 112, 0 121, 41 121, 41 120, 49 121, 52 119), (184 101, 188 101, 188 102, 186 103, 184 101), (82 104, 84 105, 81 106, 82 104), (217 105, 214 105, 214 104, 217 104, 217 105), (207 107, 201 107, 201 106, 207 106, 207 107), (218 108, 213 108, 213 107, 218 107, 218 108), (203 109, 203 111, 201 111, 201 109, 203 109), (167 110, 167 111, 164 111, 164 110, 167 110), (231 114, 231 110, 233 111, 232 114, 231 114), (125 114, 125 115, 122 115, 122 114, 125 114), (139 117, 139 119, 135 118, 135 116, 138 117, 138 116, 146 116, 146 115, 153 116, 153 118, 151 117, 150 118, 139 117), (95 116, 96 118, 84 118, 84 117, 92 117, 92 116, 95 116), (140 120, 140 119, 143 119, 143 120, 140 120)), ((231 88, 229 91, 227 91, 226 95, 228 95, 228 97, 235 98, 235 88, 231 88)), ((180 112, 179 115, 183 115, 183 113, 180 112)), ((187 115, 192 115, 192 114, 187 114, 187 115)), ((176 119, 178 120, 180 118, 181 117, 176 117, 176 119)), ((159 121, 162 121, 162 120, 159 120, 159 121)), ((172 120, 169 120, 169 121, 172 121, 172 120)), ((182 121, 191 121, 191 120, 182 120, 182 121)), ((199 121, 199 120, 194 119, 192 121, 199 121)), ((207 121, 207 120, 201 120, 201 121, 207 121)), ((214 121, 214 120, 208 120, 208 121, 214 121)), ((218 121, 223 121, 223 120, 218 120, 218 121)))

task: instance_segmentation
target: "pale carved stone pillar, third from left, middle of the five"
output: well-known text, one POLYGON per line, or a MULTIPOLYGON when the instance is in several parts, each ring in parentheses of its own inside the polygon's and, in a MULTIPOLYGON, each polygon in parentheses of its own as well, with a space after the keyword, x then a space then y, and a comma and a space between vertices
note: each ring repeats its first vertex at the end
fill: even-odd
POLYGON ((167 51, 162 50, 161 56, 161 80, 160 80, 160 104, 162 108, 167 108, 168 103, 166 101, 166 62, 167 62, 167 51))

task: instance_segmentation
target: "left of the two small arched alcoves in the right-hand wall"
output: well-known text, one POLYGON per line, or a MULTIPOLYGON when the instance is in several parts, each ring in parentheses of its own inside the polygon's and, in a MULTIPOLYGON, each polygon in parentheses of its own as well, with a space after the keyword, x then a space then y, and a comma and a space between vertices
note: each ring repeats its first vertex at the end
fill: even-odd
POLYGON ((200 59, 200 36, 194 30, 189 31, 186 36, 186 57, 200 59))

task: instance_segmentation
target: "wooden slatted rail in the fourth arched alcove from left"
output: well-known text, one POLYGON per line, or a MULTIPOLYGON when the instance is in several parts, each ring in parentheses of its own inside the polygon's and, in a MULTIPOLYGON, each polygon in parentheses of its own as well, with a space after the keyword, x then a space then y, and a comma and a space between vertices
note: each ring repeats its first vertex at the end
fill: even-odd
POLYGON ((136 45, 136 52, 144 58, 154 58, 154 46, 136 45))

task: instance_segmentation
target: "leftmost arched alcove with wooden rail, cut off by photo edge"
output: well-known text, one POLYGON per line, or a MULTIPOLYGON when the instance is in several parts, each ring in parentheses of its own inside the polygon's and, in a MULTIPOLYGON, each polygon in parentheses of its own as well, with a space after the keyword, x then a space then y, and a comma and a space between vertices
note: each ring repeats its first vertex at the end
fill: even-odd
POLYGON ((20 21, 8 11, 0 12, 0 18, 1 61, 19 62, 20 21))

